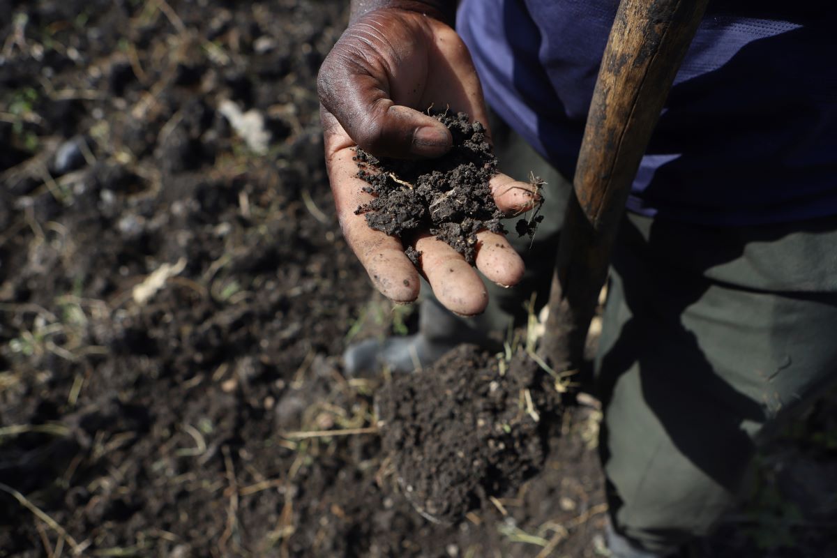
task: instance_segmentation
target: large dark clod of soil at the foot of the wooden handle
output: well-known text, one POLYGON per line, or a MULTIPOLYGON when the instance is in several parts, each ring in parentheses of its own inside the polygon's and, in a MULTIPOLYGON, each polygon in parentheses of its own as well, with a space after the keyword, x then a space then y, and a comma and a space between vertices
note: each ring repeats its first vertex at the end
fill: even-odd
POLYGON ((429 520, 454 523, 542 468, 560 396, 525 353, 507 368, 465 345, 378 392, 383 450, 429 520))

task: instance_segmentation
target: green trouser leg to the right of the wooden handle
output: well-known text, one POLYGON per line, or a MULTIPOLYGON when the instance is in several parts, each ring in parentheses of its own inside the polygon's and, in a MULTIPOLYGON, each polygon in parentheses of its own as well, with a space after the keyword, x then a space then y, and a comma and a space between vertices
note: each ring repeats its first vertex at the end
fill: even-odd
POLYGON ((703 255, 657 251, 651 223, 626 220, 614 252, 600 452, 616 530, 665 553, 711 530, 765 434, 834 381, 837 299, 707 279, 703 255))

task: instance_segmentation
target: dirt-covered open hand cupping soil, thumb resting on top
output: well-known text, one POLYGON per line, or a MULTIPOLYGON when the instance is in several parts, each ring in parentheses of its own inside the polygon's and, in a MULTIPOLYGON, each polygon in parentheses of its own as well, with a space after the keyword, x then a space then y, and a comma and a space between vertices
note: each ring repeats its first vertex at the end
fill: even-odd
MULTIPOLYGON (((355 146, 377 156, 444 155, 452 138, 444 125, 421 112, 431 105, 487 121, 465 44, 449 25, 432 17, 440 17, 439 12, 424 12, 428 15, 399 8, 363 13, 326 57, 318 78, 326 166, 343 234, 377 289, 395 302, 411 302, 419 295, 420 271, 449 310, 476 315, 485 310, 488 294, 459 253, 424 235, 414 243, 422 253, 417 270, 398 238, 369 228, 366 218, 355 214, 370 199, 363 192, 367 183, 356 176, 355 146)), ((490 184, 502 211, 521 212, 533 202, 531 186, 524 182, 499 174, 490 184)), ((477 236, 477 269, 497 284, 516 284, 523 262, 506 238, 487 231, 477 236)))

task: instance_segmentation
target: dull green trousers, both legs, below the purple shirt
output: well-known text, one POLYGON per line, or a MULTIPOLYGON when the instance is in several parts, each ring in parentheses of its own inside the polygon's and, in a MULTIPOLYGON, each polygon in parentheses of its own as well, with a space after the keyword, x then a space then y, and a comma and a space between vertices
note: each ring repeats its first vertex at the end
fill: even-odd
MULTIPOLYGON (((491 286, 471 322, 502 332, 532 292, 547 300, 569 185, 493 128, 501 170, 547 181, 543 228, 514 241, 524 281, 491 286)), ((595 368, 616 530, 662 553, 706 535, 759 445, 837 380, 837 217, 702 227, 626 215, 595 368)))

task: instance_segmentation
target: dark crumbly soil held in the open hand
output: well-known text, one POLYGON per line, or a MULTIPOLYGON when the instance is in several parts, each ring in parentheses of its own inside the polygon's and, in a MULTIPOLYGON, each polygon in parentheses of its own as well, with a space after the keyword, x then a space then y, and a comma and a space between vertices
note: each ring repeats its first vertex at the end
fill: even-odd
MULTIPOLYGON (((469 121, 464 112, 432 114, 448 127, 454 138, 451 150, 437 159, 420 161, 377 158, 357 148, 357 176, 369 186, 364 191, 375 196, 357 208, 365 213, 369 227, 403 238, 428 231, 448 243, 473 265, 476 257, 476 233, 489 230, 506 233, 504 218, 491 196, 489 181, 497 174, 497 159, 485 141, 485 128, 469 121)), ((540 218, 523 225, 518 233, 533 233, 540 218)), ((405 250, 413 264, 420 253, 405 250)))

